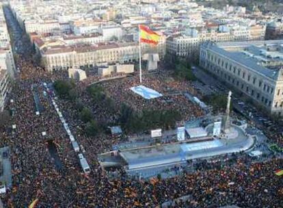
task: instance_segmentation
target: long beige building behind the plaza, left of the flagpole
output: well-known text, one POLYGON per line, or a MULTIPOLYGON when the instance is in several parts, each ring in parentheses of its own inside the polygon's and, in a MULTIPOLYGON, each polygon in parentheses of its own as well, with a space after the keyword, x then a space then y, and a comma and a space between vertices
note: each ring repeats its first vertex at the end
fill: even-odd
MULTIPOLYGON (((164 57, 163 44, 150 47, 142 44, 142 53, 159 52, 164 57)), ((66 45, 64 42, 49 42, 40 48, 41 63, 47 70, 93 67, 99 63, 131 63, 139 60, 137 42, 109 42, 97 44, 66 45)))

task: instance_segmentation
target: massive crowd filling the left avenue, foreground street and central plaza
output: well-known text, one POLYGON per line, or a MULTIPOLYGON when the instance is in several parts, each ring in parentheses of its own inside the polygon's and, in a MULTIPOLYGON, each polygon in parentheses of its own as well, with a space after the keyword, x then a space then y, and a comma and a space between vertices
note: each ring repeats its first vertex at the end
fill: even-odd
MULTIPOLYGON (((283 180, 274 172, 283 169, 283 160, 276 158, 256 164, 238 159, 231 166, 184 172, 178 177, 155 180, 154 183, 122 178, 109 181, 98 164, 97 155, 109 150, 116 141, 103 134, 95 137, 85 135, 77 109, 70 101, 58 99, 59 109, 72 134, 84 147, 84 155, 90 164, 90 174, 83 174, 77 153, 72 150, 68 135, 51 105, 50 95, 43 93, 44 82, 64 79, 66 74, 47 73, 23 57, 19 57, 17 67, 21 74, 9 95, 13 102, 8 101, 7 105, 8 109, 15 109, 15 113, 0 132, 1 146, 10 146, 12 162, 12 187, 1 195, 4 207, 28 207, 36 198, 36 207, 159 207, 164 202, 186 195, 190 196, 190 200, 178 200, 171 207, 282 207, 283 180), (36 85, 44 107, 40 115, 36 115, 31 85, 36 85), (16 129, 12 129, 12 125, 16 125, 16 129), (42 135, 42 131, 46 131, 46 135, 42 135), (62 163, 60 168, 55 166, 55 159, 49 151, 50 141, 56 145, 62 163)), ((166 96, 162 84, 158 85, 158 77, 155 78, 144 79, 144 85, 166 96), (157 81, 154 81, 155 78, 157 81)), ((139 106, 142 105, 139 103, 141 99, 135 99, 128 88, 136 82, 134 77, 121 84, 113 81, 112 87, 111 83, 107 83, 105 87, 111 88, 113 95, 120 99, 126 97, 127 101, 139 106)), ((182 85, 177 86, 183 88, 182 85)), ((80 95, 83 101, 91 103, 87 96, 80 95)), ((176 101, 180 101, 180 97, 176 96, 176 101)), ((184 112, 198 112, 198 107, 191 103, 182 103, 189 107, 184 112)), ((95 103, 92 106, 94 116, 107 116, 106 109, 100 110, 95 103)))

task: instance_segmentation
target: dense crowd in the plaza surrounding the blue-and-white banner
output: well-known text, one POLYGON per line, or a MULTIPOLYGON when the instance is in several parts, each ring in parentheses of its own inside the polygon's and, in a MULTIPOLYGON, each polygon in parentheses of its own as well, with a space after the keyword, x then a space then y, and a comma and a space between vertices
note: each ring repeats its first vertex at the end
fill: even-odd
POLYGON ((200 106, 189 101, 183 92, 194 92, 189 83, 183 81, 170 80, 169 72, 148 74, 143 76, 142 83, 139 83, 139 77, 127 77, 124 79, 111 80, 101 83, 105 88, 107 95, 120 105, 126 103, 133 107, 134 110, 142 109, 165 109, 176 110, 183 116, 183 120, 195 116, 199 117, 204 114, 200 106), (156 90, 163 96, 156 99, 143 99, 139 94, 135 94, 130 88, 142 84, 148 88, 156 90))

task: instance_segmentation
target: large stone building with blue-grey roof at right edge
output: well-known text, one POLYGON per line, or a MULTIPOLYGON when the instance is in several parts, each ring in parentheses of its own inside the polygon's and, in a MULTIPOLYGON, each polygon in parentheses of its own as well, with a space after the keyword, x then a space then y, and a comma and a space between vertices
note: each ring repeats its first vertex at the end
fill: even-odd
POLYGON ((267 112, 283 116, 283 40, 203 44, 200 66, 267 112))

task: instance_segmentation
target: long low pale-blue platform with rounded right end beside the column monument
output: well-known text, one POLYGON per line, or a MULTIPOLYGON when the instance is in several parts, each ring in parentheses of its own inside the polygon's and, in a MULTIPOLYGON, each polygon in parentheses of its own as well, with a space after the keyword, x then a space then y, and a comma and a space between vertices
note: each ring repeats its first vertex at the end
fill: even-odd
POLYGON ((212 138, 208 141, 175 142, 144 148, 125 149, 120 151, 120 156, 128 164, 128 170, 141 170, 153 166, 167 166, 168 164, 178 164, 189 159, 202 159, 239 153, 246 151, 254 145, 254 138, 245 135, 239 127, 231 127, 232 131, 237 131, 237 138, 220 140, 212 138))

